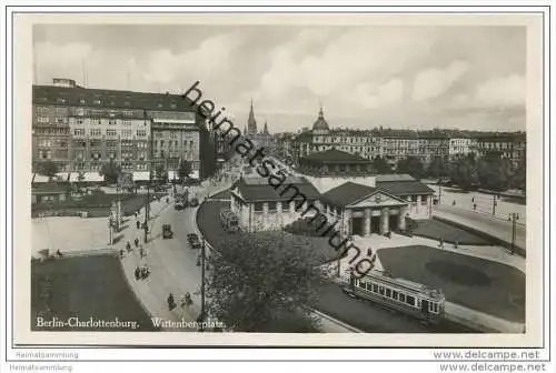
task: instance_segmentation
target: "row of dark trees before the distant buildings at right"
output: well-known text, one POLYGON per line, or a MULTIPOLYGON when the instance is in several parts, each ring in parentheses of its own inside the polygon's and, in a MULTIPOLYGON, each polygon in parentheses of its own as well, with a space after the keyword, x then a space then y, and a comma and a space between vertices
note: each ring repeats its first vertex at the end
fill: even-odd
MULTIPOLYGON (((393 172, 393 167, 383 158, 373 160, 373 167, 377 173, 393 172)), ((517 168, 512 167, 508 159, 497 153, 490 153, 481 158, 473 154, 448 162, 441 158, 434 158, 426 167, 420 159, 407 157, 397 162, 397 173, 408 173, 416 179, 449 179, 453 183, 470 190, 485 188, 495 191, 507 189, 526 188, 526 162, 523 160, 517 168)))

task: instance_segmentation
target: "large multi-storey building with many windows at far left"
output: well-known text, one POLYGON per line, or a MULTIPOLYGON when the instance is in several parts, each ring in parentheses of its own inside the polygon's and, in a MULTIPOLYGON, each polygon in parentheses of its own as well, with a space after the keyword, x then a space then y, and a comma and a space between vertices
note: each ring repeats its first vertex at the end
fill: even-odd
POLYGON ((72 80, 33 85, 33 162, 51 160, 60 171, 98 175, 112 160, 123 171, 148 174, 163 164, 172 178, 181 160, 192 175, 210 172, 214 152, 205 121, 177 94, 86 89, 72 80))

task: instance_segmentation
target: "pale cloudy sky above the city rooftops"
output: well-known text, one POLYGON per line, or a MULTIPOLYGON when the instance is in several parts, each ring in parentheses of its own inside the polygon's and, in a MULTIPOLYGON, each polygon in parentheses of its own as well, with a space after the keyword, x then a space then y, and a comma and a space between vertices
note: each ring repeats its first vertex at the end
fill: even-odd
POLYGON ((244 128, 525 130, 524 27, 41 24, 34 82, 182 93, 244 128))

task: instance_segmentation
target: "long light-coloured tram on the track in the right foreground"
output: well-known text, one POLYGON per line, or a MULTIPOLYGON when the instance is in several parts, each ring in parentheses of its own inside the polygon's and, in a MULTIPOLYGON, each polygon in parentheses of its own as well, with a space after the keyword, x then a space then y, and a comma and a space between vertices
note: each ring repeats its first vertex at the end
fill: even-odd
POLYGON ((361 279, 350 276, 349 282, 342 290, 350 296, 383 304, 430 324, 444 317, 446 299, 438 289, 393 278, 378 270, 371 270, 361 279))

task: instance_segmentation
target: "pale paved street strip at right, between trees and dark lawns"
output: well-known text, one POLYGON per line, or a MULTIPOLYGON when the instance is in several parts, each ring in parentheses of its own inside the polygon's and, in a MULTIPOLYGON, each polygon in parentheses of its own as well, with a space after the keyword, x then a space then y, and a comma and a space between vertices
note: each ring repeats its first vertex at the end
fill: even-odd
MULTIPOLYGON (((470 229, 485 232, 505 242, 512 241, 512 222, 506 220, 448 205, 436 205, 433 213, 435 216, 464 224, 470 229)), ((526 250, 525 230, 525 225, 516 225, 516 245, 523 250, 526 250)))

